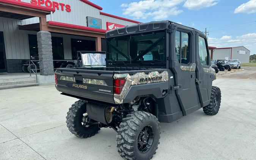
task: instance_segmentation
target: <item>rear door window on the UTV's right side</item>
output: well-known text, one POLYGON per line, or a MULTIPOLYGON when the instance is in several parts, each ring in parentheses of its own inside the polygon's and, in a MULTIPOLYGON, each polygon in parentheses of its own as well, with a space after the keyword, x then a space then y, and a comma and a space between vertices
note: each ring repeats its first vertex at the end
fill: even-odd
POLYGON ((175 52, 181 64, 188 64, 190 61, 189 35, 181 31, 175 33, 175 52))

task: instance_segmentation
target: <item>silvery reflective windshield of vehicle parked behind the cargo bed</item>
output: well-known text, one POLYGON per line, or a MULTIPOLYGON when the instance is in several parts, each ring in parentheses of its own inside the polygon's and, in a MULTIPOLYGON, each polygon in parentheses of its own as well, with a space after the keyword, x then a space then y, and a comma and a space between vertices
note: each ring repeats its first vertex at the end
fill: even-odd
POLYGON ((81 53, 83 66, 106 65, 106 55, 101 53, 81 53))

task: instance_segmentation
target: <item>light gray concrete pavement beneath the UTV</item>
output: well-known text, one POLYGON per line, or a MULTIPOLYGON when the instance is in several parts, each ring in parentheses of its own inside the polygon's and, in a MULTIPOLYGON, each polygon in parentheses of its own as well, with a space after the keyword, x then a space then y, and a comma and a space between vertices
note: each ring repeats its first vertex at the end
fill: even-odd
MULTIPOLYGON (((214 81, 222 92, 217 115, 198 110, 161 123, 153 159, 255 160, 256 68, 250 72, 220 75, 214 81)), ((0 96, 0 160, 121 160, 113 129, 103 128, 86 139, 68 131, 66 112, 77 99, 60 95, 54 85, 0 90, 0 96)))

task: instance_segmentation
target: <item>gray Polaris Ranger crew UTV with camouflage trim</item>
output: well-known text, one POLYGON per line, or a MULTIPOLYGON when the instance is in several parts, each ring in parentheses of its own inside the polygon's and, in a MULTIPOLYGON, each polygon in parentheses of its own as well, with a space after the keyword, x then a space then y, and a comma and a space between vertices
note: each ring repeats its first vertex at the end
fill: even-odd
POLYGON ((148 160, 159 144, 159 122, 200 108, 218 113, 221 92, 212 86, 216 75, 201 31, 149 22, 107 31, 106 40, 106 67, 55 73, 57 90, 80 99, 66 117, 74 135, 87 138, 113 128, 121 157, 148 160))

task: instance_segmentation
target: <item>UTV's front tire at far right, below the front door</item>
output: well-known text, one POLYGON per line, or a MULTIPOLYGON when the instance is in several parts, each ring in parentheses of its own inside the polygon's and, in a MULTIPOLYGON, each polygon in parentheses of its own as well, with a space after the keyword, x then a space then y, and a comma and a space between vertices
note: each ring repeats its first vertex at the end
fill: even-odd
POLYGON ((203 107, 206 115, 216 115, 220 110, 221 91, 220 88, 212 86, 212 93, 210 96, 210 104, 203 107))

